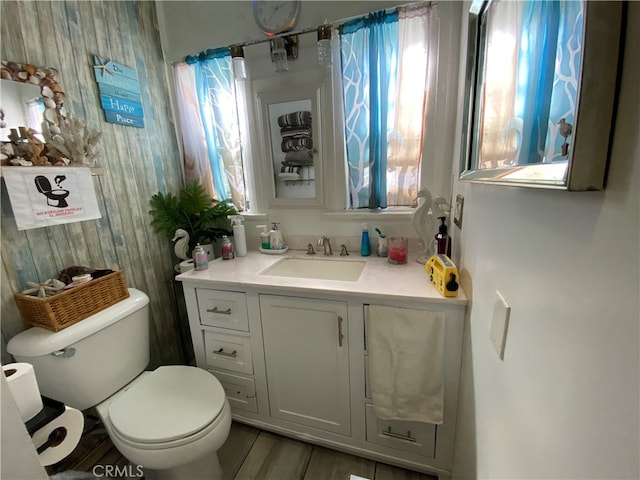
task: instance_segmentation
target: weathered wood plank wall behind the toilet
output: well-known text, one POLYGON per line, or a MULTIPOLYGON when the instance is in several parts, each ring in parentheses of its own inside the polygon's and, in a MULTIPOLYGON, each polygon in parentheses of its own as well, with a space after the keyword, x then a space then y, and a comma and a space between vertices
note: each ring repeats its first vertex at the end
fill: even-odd
POLYGON ((2 60, 58 69, 67 110, 103 132, 104 167, 94 177, 101 219, 26 231, 16 228, 3 179, 2 362, 11 361, 6 342, 24 328, 13 295, 27 281, 87 265, 121 269, 129 287, 149 295, 152 366, 181 363, 171 244, 150 227, 148 214, 154 193, 177 193, 183 183, 155 2, 5 0, 0 9, 2 60), (137 70, 143 129, 104 121, 93 54, 137 70))

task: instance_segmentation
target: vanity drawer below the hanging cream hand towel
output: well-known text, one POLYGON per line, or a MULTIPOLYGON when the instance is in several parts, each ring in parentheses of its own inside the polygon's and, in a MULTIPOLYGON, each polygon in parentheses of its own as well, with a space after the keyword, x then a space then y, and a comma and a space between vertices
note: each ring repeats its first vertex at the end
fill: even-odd
POLYGON ((373 405, 366 405, 367 442, 435 457, 436 425, 422 422, 383 420, 376 416, 373 405))

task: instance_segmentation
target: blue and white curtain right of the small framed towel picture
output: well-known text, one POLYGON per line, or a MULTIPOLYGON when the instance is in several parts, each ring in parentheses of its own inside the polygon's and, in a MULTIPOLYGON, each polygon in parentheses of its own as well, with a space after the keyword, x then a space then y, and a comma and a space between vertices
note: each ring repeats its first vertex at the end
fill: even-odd
POLYGON ((352 208, 413 205, 420 179, 430 7, 339 27, 352 208))

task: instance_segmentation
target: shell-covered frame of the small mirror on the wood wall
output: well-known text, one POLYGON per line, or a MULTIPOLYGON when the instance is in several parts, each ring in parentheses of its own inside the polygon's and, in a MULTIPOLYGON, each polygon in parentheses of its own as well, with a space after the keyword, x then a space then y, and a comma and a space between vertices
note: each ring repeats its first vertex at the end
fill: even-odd
POLYGON ((3 80, 30 83, 40 87, 40 94, 45 103, 43 120, 48 126, 57 127, 60 119, 65 117, 64 101, 66 96, 58 83, 59 72, 52 67, 35 67, 29 63, 16 63, 2 60, 0 76, 3 80))

